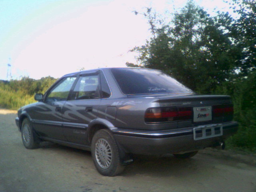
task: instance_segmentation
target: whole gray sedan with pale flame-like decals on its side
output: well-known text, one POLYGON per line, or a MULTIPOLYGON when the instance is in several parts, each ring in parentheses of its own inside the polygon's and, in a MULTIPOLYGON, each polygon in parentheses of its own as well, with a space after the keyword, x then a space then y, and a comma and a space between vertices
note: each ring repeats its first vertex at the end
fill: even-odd
POLYGON ((198 95, 160 70, 102 68, 64 75, 18 110, 26 148, 42 141, 90 150, 104 176, 132 154, 189 158, 234 134, 230 96, 198 95))

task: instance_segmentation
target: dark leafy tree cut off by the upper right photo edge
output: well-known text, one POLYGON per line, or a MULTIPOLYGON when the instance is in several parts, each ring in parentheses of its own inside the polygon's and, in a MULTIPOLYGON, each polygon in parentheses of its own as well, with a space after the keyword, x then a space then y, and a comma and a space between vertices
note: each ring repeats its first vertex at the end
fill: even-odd
POLYGON ((238 19, 226 26, 234 44, 241 52, 236 60, 241 76, 256 70, 256 1, 233 0, 231 7, 238 14, 238 19))

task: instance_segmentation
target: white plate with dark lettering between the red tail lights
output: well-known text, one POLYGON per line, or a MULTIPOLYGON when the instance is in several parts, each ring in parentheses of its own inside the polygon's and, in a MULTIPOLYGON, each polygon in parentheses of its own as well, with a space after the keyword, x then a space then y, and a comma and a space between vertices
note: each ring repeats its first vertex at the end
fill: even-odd
POLYGON ((194 122, 204 122, 212 120, 212 106, 193 107, 194 122))

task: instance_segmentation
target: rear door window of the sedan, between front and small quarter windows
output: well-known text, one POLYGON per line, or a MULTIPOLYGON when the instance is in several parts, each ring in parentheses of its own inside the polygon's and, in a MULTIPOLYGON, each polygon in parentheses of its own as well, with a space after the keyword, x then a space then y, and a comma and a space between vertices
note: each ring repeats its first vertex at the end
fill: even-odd
POLYGON ((72 100, 100 98, 99 78, 97 75, 80 76, 72 93, 72 100))

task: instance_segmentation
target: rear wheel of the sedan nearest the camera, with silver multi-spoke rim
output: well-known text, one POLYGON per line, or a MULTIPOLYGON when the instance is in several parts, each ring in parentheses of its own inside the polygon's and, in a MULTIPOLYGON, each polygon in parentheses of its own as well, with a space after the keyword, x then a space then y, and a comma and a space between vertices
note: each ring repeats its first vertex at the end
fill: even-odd
POLYGON ((92 138, 92 158, 98 172, 104 176, 116 176, 124 170, 118 145, 107 129, 98 130, 92 138))

